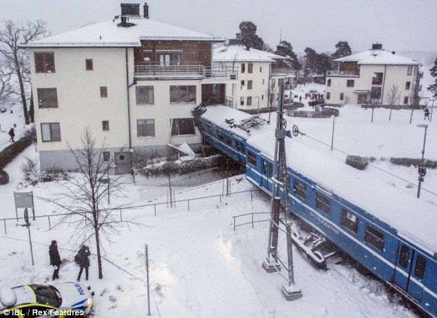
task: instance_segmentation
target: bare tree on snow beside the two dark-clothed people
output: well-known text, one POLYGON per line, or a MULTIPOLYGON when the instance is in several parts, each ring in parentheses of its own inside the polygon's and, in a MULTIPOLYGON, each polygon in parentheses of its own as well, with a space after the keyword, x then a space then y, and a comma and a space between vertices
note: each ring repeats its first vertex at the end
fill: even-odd
POLYGON ((52 195, 52 198, 41 198, 55 204, 66 215, 59 223, 68 223, 74 227, 72 237, 76 243, 86 242, 94 237, 96 244, 97 262, 99 265, 99 279, 103 277, 101 262, 101 237, 111 242, 111 235, 119 235, 123 225, 136 224, 132 220, 121 221, 115 212, 123 205, 110 204, 111 200, 124 198, 123 183, 120 176, 109 178, 114 169, 114 161, 103 160, 105 141, 101 147, 96 147, 96 140, 89 127, 85 128, 81 136, 81 149, 68 148, 77 164, 77 173, 72 173, 68 180, 57 182, 62 193, 52 195), (81 240, 81 241, 79 241, 81 240))

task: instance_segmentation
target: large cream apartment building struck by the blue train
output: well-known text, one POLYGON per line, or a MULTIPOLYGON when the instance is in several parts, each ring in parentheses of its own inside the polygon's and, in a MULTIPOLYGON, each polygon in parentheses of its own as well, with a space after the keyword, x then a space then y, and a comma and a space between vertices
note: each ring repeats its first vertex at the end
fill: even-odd
POLYGON ((227 86, 239 83, 238 70, 212 66, 223 39, 153 21, 147 5, 139 11, 121 4, 114 21, 25 46, 41 169, 74 169, 68 145, 80 148, 86 127, 96 145, 105 140, 116 173, 130 171, 132 153, 199 145, 191 110, 214 94, 224 105, 227 86))

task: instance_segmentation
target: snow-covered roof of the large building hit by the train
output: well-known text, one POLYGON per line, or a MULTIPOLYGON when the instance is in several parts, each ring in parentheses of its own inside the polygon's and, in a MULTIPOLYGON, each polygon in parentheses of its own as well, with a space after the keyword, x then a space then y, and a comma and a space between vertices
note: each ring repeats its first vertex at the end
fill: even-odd
POLYGON ((137 47, 141 40, 223 41, 223 39, 144 18, 128 19, 134 25, 118 26, 120 19, 32 41, 23 47, 137 47))

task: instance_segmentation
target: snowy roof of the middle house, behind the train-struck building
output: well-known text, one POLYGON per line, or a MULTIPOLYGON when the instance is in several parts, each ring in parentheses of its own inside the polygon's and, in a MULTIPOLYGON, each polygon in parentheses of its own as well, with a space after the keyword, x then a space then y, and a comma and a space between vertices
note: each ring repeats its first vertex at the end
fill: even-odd
POLYGON ((212 53, 214 62, 274 62, 274 59, 285 59, 285 57, 253 48, 246 50, 242 45, 218 47, 212 53))

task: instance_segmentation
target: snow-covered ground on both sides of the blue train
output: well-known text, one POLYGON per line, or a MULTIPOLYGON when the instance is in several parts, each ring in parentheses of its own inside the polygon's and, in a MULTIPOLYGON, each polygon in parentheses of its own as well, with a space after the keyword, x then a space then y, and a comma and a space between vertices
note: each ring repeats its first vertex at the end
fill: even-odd
MULTIPOLYGON (((307 85, 305 89, 323 92, 322 87, 307 85)), ((380 158, 420 158, 424 129, 416 125, 424 123, 423 112, 415 111, 411 124, 411 111, 394 111, 390 121, 388 112, 387 109, 375 109, 374 123, 371 123, 371 109, 364 110, 354 105, 340 108, 334 147, 354 155, 375 157, 377 160, 366 169, 369 176, 403 187, 409 191, 407 195, 411 200, 417 200, 416 187, 406 188, 405 182, 417 183, 416 168, 394 166, 380 158)), ((299 142, 330 156, 340 153, 330 151, 329 147, 332 119, 287 120, 290 126, 298 125, 299 130, 307 134, 298 136, 299 142)), ((436 124, 427 124, 425 158, 436 160, 436 124)), ((3 125, 2 129, 5 130, 3 125)), ((35 196, 41 197, 59 191, 53 182, 17 189, 21 181, 20 165, 25 156, 37 156, 34 147, 26 149, 5 169, 10 175, 10 183, 0 186, 0 218, 14 218, 13 191, 34 191, 35 196)), ((128 177, 126 181, 132 182, 128 177)), ((437 193, 437 171, 428 169, 423 188, 437 193)), ((233 192, 250 189, 254 186, 245 178, 240 182, 236 177, 232 178, 233 192)), ((139 204, 137 187, 128 183, 125 190, 128 195, 125 200, 130 205, 139 204)), ((218 195, 222 191, 223 184, 217 182, 176 193, 176 200, 218 195)), ((422 192, 420 200, 437 204, 436 195, 426 191, 422 192)), ((174 208, 167 208, 164 204, 157 207, 156 217, 152 207, 124 210, 123 220, 134 218, 145 226, 125 228, 121 235, 112 237, 112 243, 103 242, 103 255, 108 259, 103 261, 103 279, 97 278, 96 258, 92 257, 88 284, 96 292, 94 317, 147 314, 144 244, 149 248, 150 299, 154 317, 416 317, 397 296, 387 293, 381 282, 364 277, 347 265, 330 264, 329 271, 318 271, 296 249, 294 275, 296 284, 303 290, 303 297, 297 301, 285 301, 280 292, 283 278, 278 274, 267 274, 261 268, 267 252, 267 222, 254 224, 254 229, 251 225, 238 226, 234 231, 234 216, 267 212, 269 204, 263 194, 255 193, 252 201, 250 193, 242 193, 223 198, 222 203, 219 198, 191 201, 190 211, 186 202, 178 203, 174 208)), ((37 215, 53 214, 54 207, 38 198, 35 206, 37 215)), ((265 220, 265 217, 261 215, 259 219, 265 220)), ((56 220, 54 216, 50 218, 51 226, 56 220)), ((238 219, 237 224, 247 221, 238 219)), ((50 283, 52 268, 49 266, 48 244, 51 240, 57 240, 64 259, 60 280, 76 279, 78 268, 73 257, 79 246, 71 237, 69 225, 59 224, 49 231, 47 218, 32 221, 35 261, 32 266, 27 229, 16 224, 14 220, 6 222, 7 234, 0 224, 0 285, 50 283)), ((95 253, 93 243, 89 245, 95 253)), ((279 246, 280 255, 285 258, 285 237, 281 235, 279 246)))

